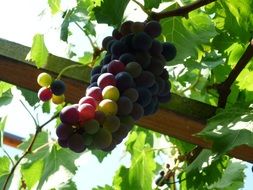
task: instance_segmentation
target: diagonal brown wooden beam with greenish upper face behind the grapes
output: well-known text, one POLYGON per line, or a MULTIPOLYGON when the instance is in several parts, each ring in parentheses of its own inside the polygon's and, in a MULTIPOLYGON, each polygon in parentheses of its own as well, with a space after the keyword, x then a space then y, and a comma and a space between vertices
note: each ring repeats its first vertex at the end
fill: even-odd
MULTIPOLYGON (((18 49, 24 49, 23 46, 18 44, 14 44, 13 46, 9 44, 8 47, 16 48, 17 51, 18 49)), ((13 58, 10 53, 1 51, 5 50, 0 49, 0 80, 35 92, 39 89, 39 86, 36 83, 39 73, 46 70, 52 75, 56 75, 57 73, 53 72, 55 71, 55 68, 57 68, 57 72, 59 72, 67 65, 78 64, 50 55, 48 64, 45 68, 37 69, 32 63, 25 60, 22 61, 24 55, 22 55, 23 58, 18 56, 14 56, 13 58)), ((84 71, 80 70, 81 69, 78 69, 74 73, 73 71, 67 72, 62 78, 67 85, 66 100, 71 103, 76 103, 82 96, 84 96, 87 81, 89 80, 88 76, 90 69, 86 68, 84 71), (80 79, 84 80, 82 81, 80 79)), ((199 145, 203 148, 210 148, 212 146, 211 142, 204 141, 203 139, 194 136, 194 134, 200 132, 205 127, 206 120, 214 115, 216 111, 215 107, 183 98, 175 94, 172 94, 171 101, 165 106, 166 109, 161 108, 156 114, 143 117, 137 122, 137 124, 150 130, 199 145)), ((229 155, 253 163, 253 149, 246 145, 234 149, 229 155)))

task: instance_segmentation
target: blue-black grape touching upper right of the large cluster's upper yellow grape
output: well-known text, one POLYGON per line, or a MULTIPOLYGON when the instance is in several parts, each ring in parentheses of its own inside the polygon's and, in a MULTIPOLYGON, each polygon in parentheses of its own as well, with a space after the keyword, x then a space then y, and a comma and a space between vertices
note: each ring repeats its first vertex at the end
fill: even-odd
POLYGON ((134 85, 133 77, 127 72, 120 72, 115 76, 116 87, 119 91, 124 91, 134 85))

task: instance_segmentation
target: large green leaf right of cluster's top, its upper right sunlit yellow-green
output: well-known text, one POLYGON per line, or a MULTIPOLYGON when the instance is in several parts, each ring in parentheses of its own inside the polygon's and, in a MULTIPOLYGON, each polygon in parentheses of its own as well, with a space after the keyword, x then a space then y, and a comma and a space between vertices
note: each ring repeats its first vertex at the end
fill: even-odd
POLYGON ((166 41, 177 48, 177 56, 170 65, 183 63, 189 56, 198 59, 204 51, 203 45, 210 45, 210 39, 217 34, 210 17, 198 11, 191 12, 188 19, 172 17, 161 24, 166 41))

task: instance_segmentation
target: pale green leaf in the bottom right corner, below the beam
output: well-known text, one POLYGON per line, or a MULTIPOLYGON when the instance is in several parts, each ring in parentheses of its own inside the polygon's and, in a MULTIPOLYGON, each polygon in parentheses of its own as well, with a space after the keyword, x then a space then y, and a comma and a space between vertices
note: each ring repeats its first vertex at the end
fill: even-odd
POLYGON ((215 190, 237 190, 243 187, 246 166, 240 162, 229 161, 222 178, 210 185, 208 189, 215 190))

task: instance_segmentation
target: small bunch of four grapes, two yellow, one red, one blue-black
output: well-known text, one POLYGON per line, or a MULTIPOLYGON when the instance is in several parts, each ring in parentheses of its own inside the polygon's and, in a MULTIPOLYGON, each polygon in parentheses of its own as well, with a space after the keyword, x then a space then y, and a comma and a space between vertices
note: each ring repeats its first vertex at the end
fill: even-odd
POLYGON ((66 86, 61 80, 53 80, 48 73, 40 73, 37 82, 41 86, 38 91, 38 97, 41 101, 46 102, 52 99, 54 104, 61 104, 65 101, 64 92, 66 86))

